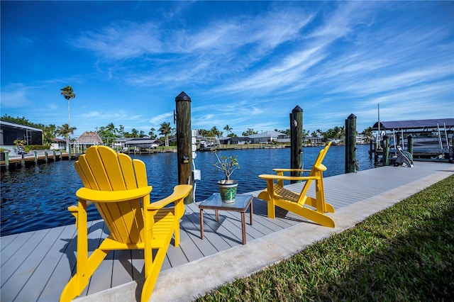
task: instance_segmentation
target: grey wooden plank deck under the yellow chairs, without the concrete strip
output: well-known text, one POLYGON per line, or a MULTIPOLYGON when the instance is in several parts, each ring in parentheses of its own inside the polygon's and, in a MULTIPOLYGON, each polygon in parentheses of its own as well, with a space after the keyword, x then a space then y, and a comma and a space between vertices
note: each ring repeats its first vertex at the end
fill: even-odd
MULTIPOLYGON (((453 174, 454 164, 417 162, 413 168, 380 167, 358 173, 327 177, 325 179, 326 201, 331 203, 337 212, 342 208, 354 206, 355 203, 373 200, 374 196, 388 191, 395 196, 401 188, 404 188, 405 191, 397 195, 400 196, 399 198, 404 198, 453 174)), ((263 188, 265 186, 265 181, 263 181, 263 188)), ((289 187, 299 190, 302 184, 292 184, 289 187)), ((257 196, 259 192, 255 191, 252 194, 257 196)), ((204 211, 205 238, 201 240, 198 203, 187 205, 181 224, 180 246, 169 247, 167 259, 162 266, 163 272, 242 246, 240 213, 236 212, 219 212, 220 220, 219 223, 216 223, 214 211, 204 211)), ((253 200, 253 210, 254 223, 253 225, 246 224, 248 243, 243 247, 262 240, 259 238, 279 236, 279 232, 283 233, 285 229, 294 225, 301 225, 301 228, 314 226, 313 223, 294 216, 292 213, 279 216, 279 211, 277 211, 278 217, 274 220, 269 219, 267 218, 266 203, 258 198, 253 200)), ((339 211, 339 213, 344 212, 339 211)), ((69 212, 68 220, 73 220, 69 212)), ((2 302, 58 301, 63 287, 74 274, 76 235, 76 229, 72 224, 0 237, 0 300, 2 302)), ((94 250, 101 239, 106 236, 106 228, 102 220, 89 223, 89 250, 94 250)), ((142 278, 142 252, 111 252, 94 273, 89 286, 81 296, 88 295, 87 298, 90 298, 90 295, 96 296, 96 293, 100 291, 135 283, 132 281, 142 278)), ((160 280, 158 279, 157 287, 159 285, 160 280)), ((159 289, 157 288, 155 291, 159 291, 159 289)), ((131 296, 131 301, 135 301, 135 296, 131 296)))

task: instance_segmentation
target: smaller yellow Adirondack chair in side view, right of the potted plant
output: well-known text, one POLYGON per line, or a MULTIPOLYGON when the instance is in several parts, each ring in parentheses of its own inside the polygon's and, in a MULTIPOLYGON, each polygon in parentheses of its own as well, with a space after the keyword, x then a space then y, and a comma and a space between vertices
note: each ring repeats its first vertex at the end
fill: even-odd
POLYGON ((331 204, 325 202, 323 171, 326 171, 326 167, 321 163, 330 146, 331 142, 319 152, 312 169, 273 169, 277 172, 276 175, 259 175, 260 178, 266 179, 267 181, 267 189, 262 191, 258 195, 258 198, 267 201, 269 218, 274 219, 276 217, 275 206, 279 206, 287 211, 312 220, 315 223, 334 228, 334 220, 324 214, 326 212, 334 213, 334 208, 331 204), (284 176, 284 172, 309 172, 309 176, 284 176), (284 180, 304 180, 306 182, 301 192, 295 193, 284 188, 284 180), (315 198, 307 196, 312 181, 315 181, 315 198), (309 208, 308 206, 311 206, 312 208, 309 208))

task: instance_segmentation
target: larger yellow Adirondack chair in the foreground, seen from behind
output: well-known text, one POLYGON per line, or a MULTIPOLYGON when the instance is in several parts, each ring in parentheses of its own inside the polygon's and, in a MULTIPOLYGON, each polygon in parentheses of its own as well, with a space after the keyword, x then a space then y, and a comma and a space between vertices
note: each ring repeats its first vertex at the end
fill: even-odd
POLYGON ((152 187, 147 183, 145 164, 104 146, 89 147, 74 167, 84 184, 76 193, 78 205, 68 208, 76 218, 77 271, 63 289, 60 301, 71 301, 82 293, 109 251, 137 249, 144 250, 145 255, 141 301, 148 301, 174 233, 175 247, 179 245, 183 199, 192 186, 177 185, 172 195, 150 203, 152 187), (88 256, 87 206, 91 203, 110 235, 88 256), (164 208, 170 203, 174 206, 164 208), (157 250, 154 259, 153 250, 157 250))

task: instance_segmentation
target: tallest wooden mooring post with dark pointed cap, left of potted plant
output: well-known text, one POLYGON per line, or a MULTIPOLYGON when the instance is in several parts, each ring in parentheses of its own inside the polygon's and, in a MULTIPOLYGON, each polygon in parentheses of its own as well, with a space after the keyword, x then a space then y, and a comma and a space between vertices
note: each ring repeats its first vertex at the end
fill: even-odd
MULTIPOLYGON (((178 183, 192 184, 192 135, 191 135, 191 98, 182 91, 176 98, 177 104, 177 158, 178 183)), ((192 203, 193 194, 184 198, 184 203, 192 203)))

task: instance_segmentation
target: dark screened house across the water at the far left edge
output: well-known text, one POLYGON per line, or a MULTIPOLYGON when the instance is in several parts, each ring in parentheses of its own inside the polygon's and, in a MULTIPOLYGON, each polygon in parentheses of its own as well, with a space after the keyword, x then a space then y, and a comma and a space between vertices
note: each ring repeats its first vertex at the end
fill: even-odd
POLYGON ((28 125, 0 121, 0 145, 12 147, 14 140, 24 140, 26 145, 43 145, 43 130, 28 125))

